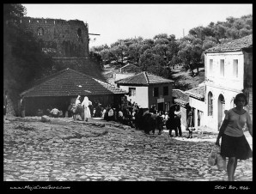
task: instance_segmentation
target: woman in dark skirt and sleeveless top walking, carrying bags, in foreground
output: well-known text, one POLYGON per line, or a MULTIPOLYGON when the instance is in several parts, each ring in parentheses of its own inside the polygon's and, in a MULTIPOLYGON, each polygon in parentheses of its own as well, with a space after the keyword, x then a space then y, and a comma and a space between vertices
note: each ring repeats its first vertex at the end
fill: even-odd
POLYGON ((235 169, 237 160, 247 160, 253 157, 247 138, 243 133, 243 127, 247 124, 250 135, 253 137, 253 122, 249 113, 244 110, 247 106, 247 96, 243 93, 235 96, 235 107, 230 109, 222 122, 216 145, 221 148, 221 155, 224 160, 229 158, 227 173, 229 181, 235 181, 235 169), (220 145, 220 138, 222 143, 220 145))

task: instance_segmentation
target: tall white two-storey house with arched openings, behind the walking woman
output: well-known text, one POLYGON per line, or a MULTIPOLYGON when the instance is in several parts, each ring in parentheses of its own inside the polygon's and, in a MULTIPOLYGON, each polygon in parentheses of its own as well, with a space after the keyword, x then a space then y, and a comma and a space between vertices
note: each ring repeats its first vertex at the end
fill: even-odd
POLYGON ((253 119, 253 35, 206 50, 204 70, 204 101, 192 105, 204 111, 204 124, 218 130, 223 112, 235 106, 235 95, 242 92, 247 95, 246 109, 253 119))

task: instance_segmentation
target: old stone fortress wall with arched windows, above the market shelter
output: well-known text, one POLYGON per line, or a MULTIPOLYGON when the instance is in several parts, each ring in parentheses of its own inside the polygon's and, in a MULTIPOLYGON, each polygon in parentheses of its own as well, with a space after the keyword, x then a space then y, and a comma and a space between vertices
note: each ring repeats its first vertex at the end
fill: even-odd
POLYGON ((83 21, 24 17, 19 24, 40 39, 43 52, 88 58, 88 24, 83 21))

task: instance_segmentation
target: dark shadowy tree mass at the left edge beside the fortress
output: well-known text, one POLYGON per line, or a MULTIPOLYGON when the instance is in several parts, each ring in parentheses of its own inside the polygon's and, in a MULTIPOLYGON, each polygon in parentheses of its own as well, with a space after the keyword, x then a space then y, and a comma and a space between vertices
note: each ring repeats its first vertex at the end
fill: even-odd
POLYGON ((24 15, 21 4, 3 4, 3 87, 15 94, 52 69, 52 60, 41 52, 38 40, 18 26, 16 21, 24 15))

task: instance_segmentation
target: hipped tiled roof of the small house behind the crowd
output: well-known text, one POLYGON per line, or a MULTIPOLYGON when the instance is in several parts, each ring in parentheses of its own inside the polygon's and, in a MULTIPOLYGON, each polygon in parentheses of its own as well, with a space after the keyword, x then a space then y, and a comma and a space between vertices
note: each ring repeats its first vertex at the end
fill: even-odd
POLYGON ((153 74, 149 74, 147 71, 143 71, 141 73, 138 73, 134 76, 129 76, 124 79, 121 79, 119 81, 116 81, 116 83, 122 85, 122 84, 129 84, 129 85, 150 85, 155 83, 167 83, 167 82, 174 82, 172 80, 168 80, 166 78, 163 78, 161 76, 155 76, 153 74))

